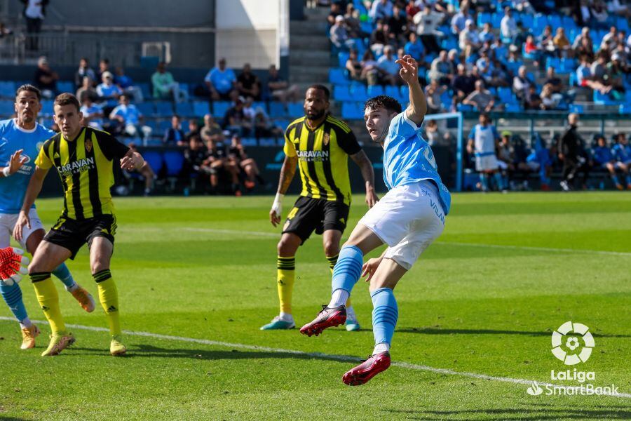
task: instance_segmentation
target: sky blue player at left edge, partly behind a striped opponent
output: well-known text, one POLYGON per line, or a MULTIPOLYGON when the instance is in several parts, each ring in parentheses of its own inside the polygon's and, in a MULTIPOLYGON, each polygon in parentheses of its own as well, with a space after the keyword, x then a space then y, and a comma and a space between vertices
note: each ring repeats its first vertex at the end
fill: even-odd
MULTIPOLYGON (((35 159, 43 142, 53 137, 55 132, 37 123, 37 114, 41 110, 41 93, 31 85, 22 85, 15 93, 15 119, 0 121, 0 248, 6 248, 11 242, 11 234, 24 202, 27 185, 35 169, 35 159)), ((29 212, 30 227, 25 227, 22 248, 33 254, 46 234, 35 206, 29 212)), ((92 295, 81 288, 65 264, 53 272, 72 293, 86 312, 92 312, 95 302, 92 295)), ((15 279, 16 281, 18 279, 15 279)), ((15 281, 0 281, 2 298, 20 322, 22 329, 22 349, 35 346, 39 328, 29 319, 22 301, 22 290, 15 281)))

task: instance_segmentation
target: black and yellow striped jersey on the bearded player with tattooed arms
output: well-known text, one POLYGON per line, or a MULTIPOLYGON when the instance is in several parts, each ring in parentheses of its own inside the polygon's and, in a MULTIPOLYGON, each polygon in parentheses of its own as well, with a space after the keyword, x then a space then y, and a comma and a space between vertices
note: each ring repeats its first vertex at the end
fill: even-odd
POLYGON ((301 117, 285 131, 285 154, 298 156, 301 196, 350 204, 348 155, 361 150, 351 128, 334 116, 327 116, 313 130, 301 117))

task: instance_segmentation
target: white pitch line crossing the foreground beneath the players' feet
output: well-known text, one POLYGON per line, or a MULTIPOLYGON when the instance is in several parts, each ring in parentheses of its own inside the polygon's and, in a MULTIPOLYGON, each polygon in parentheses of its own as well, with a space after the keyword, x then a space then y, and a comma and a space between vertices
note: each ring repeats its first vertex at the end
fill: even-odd
MULTIPOLYGON (((4 321, 15 321, 13 317, 0 316, 0 320, 4 321)), ((36 323, 44 323, 48 324, 46 321, 34 320, 36 323)), ((95 326, 83 326, 76 324, 67 324, 69 328, 80 329, 80 330, 92 330, 93 332, 109 332, 107 328, 97 328, 95 326)), ((222 342, 217 340, 208 340, 208 339, 196 339, 196 338, 186 338, 184 336, 172 336, 172 335, 161 335, 160 333, 151 333, 151 332, 136 332, 134 330, 123 330, 125 335, 130 336, 142 336, 144 338, 156 338, 162 340, 174 340, 179 342, 189 342, 195 344, 202 345, 210 345, 214 347, 224 347, 224 348, 232 348, 232 349, 247 349, 248 351, 263 351, 270 352, 273 354, 290 354, 290 355, 300 355, 300 356, 311 356, 313 358, 321 358, 321 359, 330 359, 334 361, 342 361, 342 362, 355 362, 360 361, 358 357, 350 356, 350 355, 336 355, 336 354, 325 354, 323 352, 304 352, 297 351, 295 349, 283 349, 283 348, 271 348, 271 347, 261 347, 259 345, 246 345, 246 344, 238 344, 232 342, 222 342)), ((403 363, 395 361, 391 363, 391 366, 399 367, 399 368, 407 368, 408 370, 420 370, 420 371, 429 371, 430 373, 437 374, 445 374, 445 375, 459 375, 463 377, 472 377, 480 380, 494 380, 496 382, 505 382, 505 383, 514 383, 517 385, 533 385, 534 380, 524 380, 524 379, 515 379, 513 377, 498 377, 494 375, 486 375, 480 373, 469 373, 467 371, 455 371, 450 370, 449 368, 435 368, 430 366, 423 366, 420 364, 412 364, 412 363, 403 363)), ((537 382, 538 385, 550 386, 550 387, 561 387, 562 389, 573 389, 573 386, 565 386, 565 385, 555 385, 553 383, 546 382, 537 382)), ((604 394, 604 396, 613 396, 616 398, 631 398, 631 394, 628 393, 618 393, 618 394, 604 394)))

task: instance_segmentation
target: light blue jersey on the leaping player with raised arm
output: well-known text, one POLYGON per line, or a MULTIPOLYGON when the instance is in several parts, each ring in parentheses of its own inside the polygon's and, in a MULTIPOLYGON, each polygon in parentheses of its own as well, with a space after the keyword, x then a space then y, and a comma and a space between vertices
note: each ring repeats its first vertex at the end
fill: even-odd
POLYGON ((435 183, 445 215, 452 196, 442 184, 432 148, 421 137, 421 128, 407 118, 405 111, 395 116, 384 142, 384 181, 388 189, 421 180, 435 183))

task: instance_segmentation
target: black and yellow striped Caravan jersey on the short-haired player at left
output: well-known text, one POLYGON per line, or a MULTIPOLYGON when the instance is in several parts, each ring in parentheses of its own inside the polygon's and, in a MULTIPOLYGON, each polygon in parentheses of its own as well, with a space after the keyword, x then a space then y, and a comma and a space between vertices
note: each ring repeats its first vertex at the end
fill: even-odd
POLYGON ((114 184, 112 161, 128 150, 109 133, 86 127, 72 141, 62 133, 46 140, 35 163, 45 170, 57 168, 65 192, 62 215, 83 220, 114 214, 109 192, 114 184))

